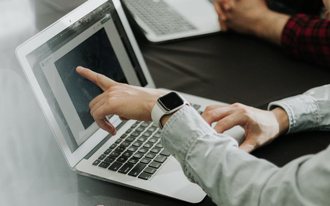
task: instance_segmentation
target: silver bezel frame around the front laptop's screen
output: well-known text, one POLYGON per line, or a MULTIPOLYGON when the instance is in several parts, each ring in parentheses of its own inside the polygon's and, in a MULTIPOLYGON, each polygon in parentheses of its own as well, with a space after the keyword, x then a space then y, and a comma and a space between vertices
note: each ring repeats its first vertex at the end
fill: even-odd
MULTIPOLYGON (((94 9, 98 8, 102 4, 107 2, 107 0, 89 0, 82 4, 80 7, 75 9, 74 11, 70 12, 69 14, 65 15, 63 18, 59 19, 49 27, 47 27, 45 30, 37 34, 36 36, 32 37, 25 43, 21 44, 16 49, 16 56, 21 64, 21 67, 23 68, 23 71, 25 75, 27 76, 27 79, 37 97, 37 100, 49 122, 49 125, 56 137, 56 140, 58 144, 60 145, 60 148, 65 156, 66 161, 70 165, 72 169, 74 169, 75 165, 80 162, 95 146, 97 146, 107 135, 108 133, 98 129, 89 139, 87 139, 77 150, 75 150, 73 153, 71 153, 67 142, 65 141, 65 138, 63 136, 63 133, 61 132, 59 125, 57 124, 54 114, 52 113, 49 104, 47 103, 46 97, 43 94, 40 85, 38 84, 38 81, 35 77, 35 74, 32 71, 32 68, 30 64, 27 61, 26 55, 32 52, 34 49, 38 48, 45 42, 47 42, 49 39, 53 38, 56 34, 59 34, 64 29, 68 28, 75 22, 77 22, 79 19, 84 17, 85 15, 92 12, 94 9)), ((153 83, 153 80, 151 78, 151 75, 149 73, 149 70, 147 68, 147 65, 143 59, 142 53, 140 51, 140 48, 134 38, 133 32, 129 26, 129 23, 127 21, 127 18, 124 14, 123 8, 121 6, 121 3, 119 0, 113 0, 112 1, 117 15, 119 16, 119 19, 121 21, 121 24, 124 28, 124 31, 128 37, 129 44, 131 44, 131 47, 135 53, 135 56, 138 60, 138 63, 142 69, 142 72, 147 80, 147 85, 145 87, 147 88, 155 88, 155 85, 153 83)), ((118 31, 119 32, 119 31, 118 31)), ((113 117, 115 118, 115 117, 113 117)), ((110 119, 110 121, 114 120, 113 118, 110 119)), ((116 122, 114 124, 119 124, 120 122, 116 122)))

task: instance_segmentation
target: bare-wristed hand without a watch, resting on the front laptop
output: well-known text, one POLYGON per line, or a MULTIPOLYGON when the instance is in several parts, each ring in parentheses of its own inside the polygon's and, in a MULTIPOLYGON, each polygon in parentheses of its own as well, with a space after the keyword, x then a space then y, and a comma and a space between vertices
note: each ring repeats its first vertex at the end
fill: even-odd
POLYGON ((285 111, 277 107, 272 111, 265 111, 240 103, 228 106, 211 105, 202 114, 210 125, 217 122, 214 129, 223 133, 234 126, 240 125, 245 129, 245 141, 239 146, 248 153, 258 147, 270 143, 289 127, 285 111))

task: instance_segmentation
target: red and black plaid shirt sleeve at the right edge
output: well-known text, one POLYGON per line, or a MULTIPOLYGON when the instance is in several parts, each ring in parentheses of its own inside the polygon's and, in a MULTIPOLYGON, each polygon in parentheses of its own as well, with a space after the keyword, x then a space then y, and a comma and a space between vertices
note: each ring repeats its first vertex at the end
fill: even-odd
POLYGON ((289 19, 282 34, 285 53, 298 59, 330 66, 330 21, 298 14, 289 19))

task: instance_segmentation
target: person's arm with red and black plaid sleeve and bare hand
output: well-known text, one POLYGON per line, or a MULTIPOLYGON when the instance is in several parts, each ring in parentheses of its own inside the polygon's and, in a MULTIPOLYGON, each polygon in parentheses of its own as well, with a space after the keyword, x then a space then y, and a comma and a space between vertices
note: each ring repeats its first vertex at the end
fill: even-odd
MULTIPOLYGON (((330 8, 330 0, 323 3, 330 8)), ((265 0, 216 0, 214 5, 223 31, 230 28, 251 34, 282 45, 299 59, 330 66, 329 20, 280 14, 271 11, 265 0)), ((330 13, 325 16, 330 18, 330 13)))

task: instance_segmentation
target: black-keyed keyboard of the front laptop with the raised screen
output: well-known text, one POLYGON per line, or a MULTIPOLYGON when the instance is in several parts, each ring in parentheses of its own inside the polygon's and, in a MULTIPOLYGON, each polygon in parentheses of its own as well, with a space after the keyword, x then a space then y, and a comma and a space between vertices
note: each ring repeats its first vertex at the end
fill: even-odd
MULTIPOLYGON (((200 105, 191 105, 197 111, 200 108, 200 105)), ((149 180, 170 156, 163 149, 160 134, 161 130, 153 122, 136 121, 93 165, 149 180)))

